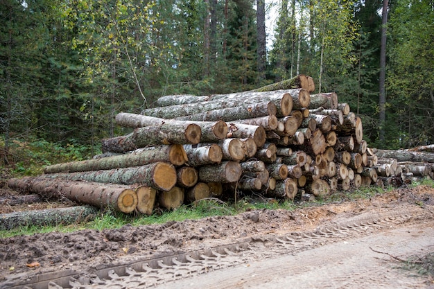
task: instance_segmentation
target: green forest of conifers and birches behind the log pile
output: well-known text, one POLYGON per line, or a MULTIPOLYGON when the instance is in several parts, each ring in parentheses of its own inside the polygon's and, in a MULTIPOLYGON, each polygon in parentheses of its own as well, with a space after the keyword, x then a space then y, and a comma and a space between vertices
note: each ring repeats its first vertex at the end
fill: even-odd
POLYGON ((96 155, 119 112, 298 74, 370 147, 434 143, 433 44, 433 0, 0 0, 0 164, 23 143, 96 155))

